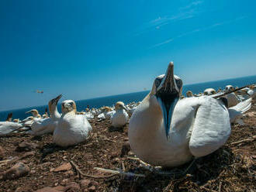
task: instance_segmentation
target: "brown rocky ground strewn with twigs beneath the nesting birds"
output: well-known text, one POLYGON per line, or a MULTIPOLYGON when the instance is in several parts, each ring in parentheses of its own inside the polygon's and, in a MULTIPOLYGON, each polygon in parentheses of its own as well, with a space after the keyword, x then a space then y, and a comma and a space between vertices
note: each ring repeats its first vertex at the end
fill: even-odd
MULTIPOLYGON (((159 175, 140 166, 129 152, 128 125, 113 129, 108 120, 91 121, 88 141, 67 149, 51 135, 0 138, 1 191, 256 191, 256 98, 244 115, 245 125, 232 125, 225 146, 197 159, 186 175, 159 175), (75 168, 77 167, 77 168, 75 168), (145 177, 112 175, 95 170, 141 173, 145 177), (81 171, 81 173, 79 173, 81 171)), ((176 171, 185 170, 185 166, 176 171)))

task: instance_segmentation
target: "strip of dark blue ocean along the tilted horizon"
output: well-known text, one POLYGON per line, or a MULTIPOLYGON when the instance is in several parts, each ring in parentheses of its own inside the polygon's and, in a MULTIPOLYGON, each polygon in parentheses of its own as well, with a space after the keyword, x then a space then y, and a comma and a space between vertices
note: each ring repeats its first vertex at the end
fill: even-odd
MULTIPOLYGON (((240 77, 240 78, 234 78, 234 79, 227 79, 227 80, 221 80, 221 81, 210 81, 200 84, 186 84, 183 86, 183 94, 185 94, 187 91, 192 91, 193 94, 198 94, 199 92, 203 92, 206 88, 212 87, 214 89, 218 89, 221 87, 222 89, 226 87, 228 84, 232 84, 234 87, 242 87, 247 84, 255 84, 256 83, 256 75, 250 76, 250 77, 240 77)), ((112 106, 115 105, 116 101, 123 101, 125 104, 128 104, 130 102, 137 102, 142 101, 143 98, 149 93, 149 91, 140 91, 136 93, 130 93, 130 94, 119 94, 119 95, 112 95, 104 98, 92 98, 92 99, 85 99, 80 101, 75 101, 77 105, 78 111, 83 111, 85 108, 87 108, 87 105, 90 106, 90 108, 101 108, 102 106, 112 106)), ((34 106, 29 108, 21 108, 16 109, 12 111, 0 111, 0 122, 5 121, 7 118, 7 115, 12 112, 12 118, 19 118, 24 119, 29 114, 25 114, 26 111, 29 111, 32 108, 36 108, 40 114, 43 114, 45 111, 45 108, 47 108, 47 105, 44 106, 34 106)), ((61 105, 58 105, 58 110, 61 111, 61 105)))

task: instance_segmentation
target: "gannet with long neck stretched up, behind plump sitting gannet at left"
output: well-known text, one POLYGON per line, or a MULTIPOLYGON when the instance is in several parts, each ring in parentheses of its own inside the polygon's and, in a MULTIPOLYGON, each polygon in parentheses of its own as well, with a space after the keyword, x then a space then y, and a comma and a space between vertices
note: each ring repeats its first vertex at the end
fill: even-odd
POLYGON ((61 98, 61 94, 49 101, 48 107, 50 111, 50 118, 36 118, 31 125, 31 135, 44 135, 47 133, 53 133, 57 127, 58 120, 61 118, 60 113, 57 111, 57 102, 61 98))

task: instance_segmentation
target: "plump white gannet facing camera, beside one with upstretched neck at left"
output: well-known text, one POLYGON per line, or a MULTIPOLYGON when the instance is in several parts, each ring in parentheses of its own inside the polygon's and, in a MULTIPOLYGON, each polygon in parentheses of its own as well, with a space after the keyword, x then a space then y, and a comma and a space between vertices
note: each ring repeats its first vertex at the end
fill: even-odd
POLYGON ((72 100, 65 100, 61 104, 62 115, 54 130, 54 142, 58 146, 73 146, 88 138, 92 126, 85 115, 76 115, 76 105, 72 100))

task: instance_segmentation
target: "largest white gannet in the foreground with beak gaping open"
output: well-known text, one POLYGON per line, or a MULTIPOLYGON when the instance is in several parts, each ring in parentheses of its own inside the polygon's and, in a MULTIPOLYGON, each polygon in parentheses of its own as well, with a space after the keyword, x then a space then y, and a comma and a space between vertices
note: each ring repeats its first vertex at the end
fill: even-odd
POLYGON ((230 118, 223 101, 209 96, 184 98, 174 64, 154 80, 150 93, 130 118, 133 152, 154 166, 179 166, 213 153, 230 135, 230 118))

